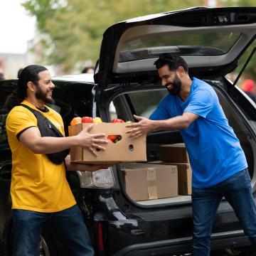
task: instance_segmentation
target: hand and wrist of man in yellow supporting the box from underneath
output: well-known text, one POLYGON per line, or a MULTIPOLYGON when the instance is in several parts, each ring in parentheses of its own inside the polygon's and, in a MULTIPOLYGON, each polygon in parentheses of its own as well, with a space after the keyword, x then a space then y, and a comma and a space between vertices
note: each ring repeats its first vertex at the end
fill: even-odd
POLYGON ((71 163, 70 155, 66 156, 65 164, 68 171, 97 171, 100 169, 108 169, 115 164, 75 164, 71 163))

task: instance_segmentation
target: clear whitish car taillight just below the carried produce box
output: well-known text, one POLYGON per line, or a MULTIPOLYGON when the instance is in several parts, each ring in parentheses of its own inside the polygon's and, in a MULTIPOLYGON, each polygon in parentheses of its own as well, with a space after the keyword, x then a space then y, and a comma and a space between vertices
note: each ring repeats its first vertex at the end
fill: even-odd
POLYGON ((98 171, 77 171, 81 188, 112 188, 114 177, 112 168, 98 171))

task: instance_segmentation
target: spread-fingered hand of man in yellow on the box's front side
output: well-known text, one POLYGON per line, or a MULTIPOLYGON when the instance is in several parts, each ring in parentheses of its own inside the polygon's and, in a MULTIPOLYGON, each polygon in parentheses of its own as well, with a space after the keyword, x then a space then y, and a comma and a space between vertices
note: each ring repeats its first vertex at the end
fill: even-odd
POLYGON ((99 139, 105 137, 106 134, 90 134, 93 124, 85 128, 80 132, 78 137, 79 146, 89 149, 92 154, 97 156, 97 149, 105 150, 105 147, 100 146, 99 144, 107 144, 107 139, 99 139))

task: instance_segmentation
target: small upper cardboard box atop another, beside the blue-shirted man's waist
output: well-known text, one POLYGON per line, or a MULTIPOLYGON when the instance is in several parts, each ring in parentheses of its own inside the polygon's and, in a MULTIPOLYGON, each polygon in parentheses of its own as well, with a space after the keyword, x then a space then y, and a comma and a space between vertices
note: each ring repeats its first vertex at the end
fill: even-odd
POLYGON ((188 152, 183 143, 161 145, 159 159, 167 163, 189 163, 188 152))

